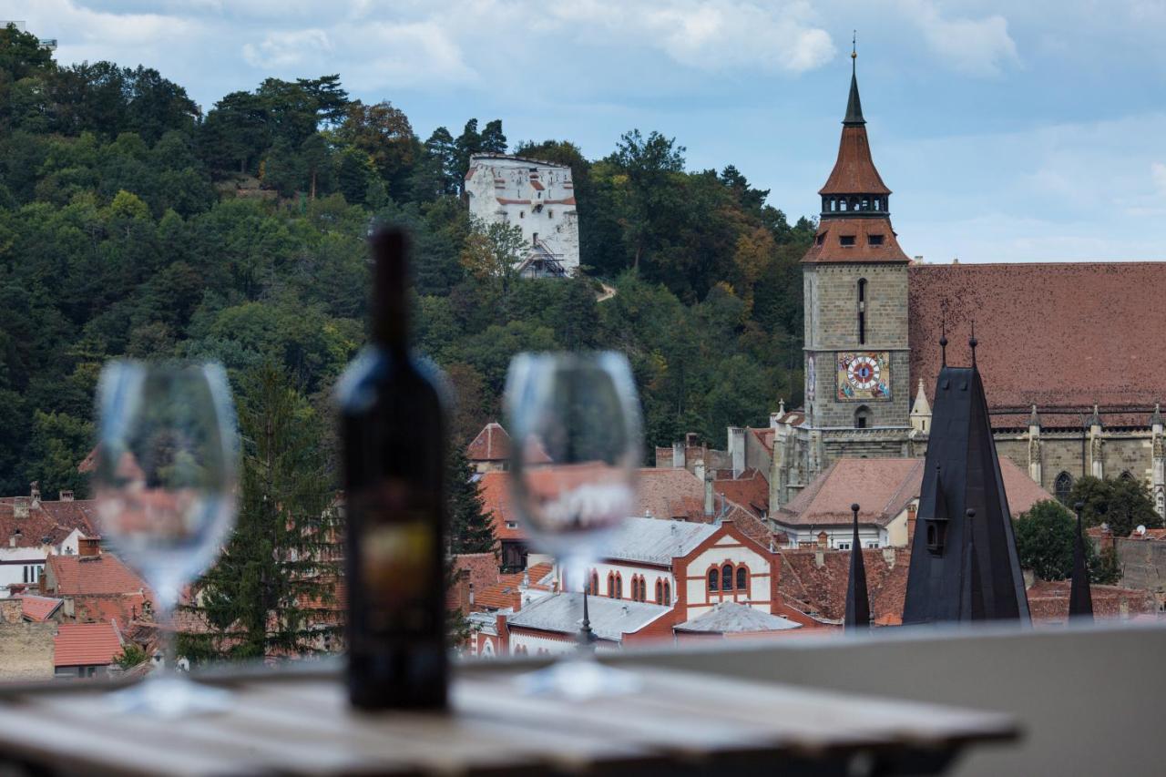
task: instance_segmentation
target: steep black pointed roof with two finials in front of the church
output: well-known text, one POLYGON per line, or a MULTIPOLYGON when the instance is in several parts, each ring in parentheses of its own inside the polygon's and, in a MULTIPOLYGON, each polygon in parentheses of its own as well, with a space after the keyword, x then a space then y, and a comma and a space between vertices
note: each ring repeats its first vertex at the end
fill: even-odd
POLYGON ((971 366, 948 366, 944 358, 935 384, 904 625, 1028 621, 975 337, 971 348, 971 366))

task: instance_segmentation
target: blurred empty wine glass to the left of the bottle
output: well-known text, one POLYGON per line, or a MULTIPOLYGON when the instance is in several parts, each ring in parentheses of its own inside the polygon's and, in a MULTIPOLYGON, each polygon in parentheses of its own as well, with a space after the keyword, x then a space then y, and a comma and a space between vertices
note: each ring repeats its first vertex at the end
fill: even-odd
POLYGON ((129 712, 220 709, 220 690, 170 668, 182 587, 218 556, 236 516, 238 435, 218 364, 114 360, 98 382, 93 491, 101 537, 154 592, 166 666, 112 694, 129 712))

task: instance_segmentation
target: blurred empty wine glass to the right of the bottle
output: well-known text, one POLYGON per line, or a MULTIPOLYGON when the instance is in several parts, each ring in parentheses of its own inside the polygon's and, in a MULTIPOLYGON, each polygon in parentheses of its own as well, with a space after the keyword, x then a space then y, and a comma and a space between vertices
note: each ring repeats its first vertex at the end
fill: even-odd
MULTIPOLYGON (((519 354, 506 379, 512 504, 531 542, 555 556, 563 593, 582 592, 576 660, 525 678, 571 699, 627 692, 631 676, 590 660, 589 568, 635 506, 640 413, 621 354, 519 354)), ((592 594, 595 592, 591 592, 592 594)))

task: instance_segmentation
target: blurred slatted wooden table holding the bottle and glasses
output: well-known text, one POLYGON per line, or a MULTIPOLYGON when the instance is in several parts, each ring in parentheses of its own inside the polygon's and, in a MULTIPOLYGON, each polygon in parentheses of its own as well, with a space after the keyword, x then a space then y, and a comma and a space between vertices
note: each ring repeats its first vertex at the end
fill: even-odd
POLYGON ((1003 714, 675 671, 567 702, 520 694, 515 672, 459 670, 448 715, 356 713, 333 671, 208 680, 232 688, 233 708, 180 721, 111 713, 107 684, 26 686, 0 693, 0 762, 17 775, 936 774, 968 744, 1017 736, 1003 714))

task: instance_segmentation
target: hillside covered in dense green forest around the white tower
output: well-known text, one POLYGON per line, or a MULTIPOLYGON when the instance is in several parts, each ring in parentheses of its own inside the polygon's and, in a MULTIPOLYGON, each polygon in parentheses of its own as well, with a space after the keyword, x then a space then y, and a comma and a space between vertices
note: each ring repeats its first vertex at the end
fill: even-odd
POLYGON ((113 356, 220 359, 243 406, 248 373, 282 365, 326 453, 329 392, 364 341, 373 218, 414 233, 417 344, 458 390, 459 435, 497 414, 515 351, 552 348, 626 351, 649 446, 764 424, 800 396, 813 224, 683 153, 632 131, 588 160, 476 119, 422 141, 337 76, 267 79, 203 114, 154 70, 59 66, 0 30, 0 495, 85 491, 76 464, 113 356), (459 191, 477 150, 571 166, 588 278, 483 261, 499 246, 459 191), (597 303, 596 279, 617 294, 597 303))

